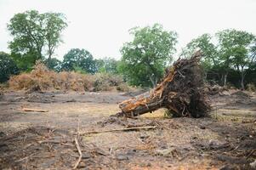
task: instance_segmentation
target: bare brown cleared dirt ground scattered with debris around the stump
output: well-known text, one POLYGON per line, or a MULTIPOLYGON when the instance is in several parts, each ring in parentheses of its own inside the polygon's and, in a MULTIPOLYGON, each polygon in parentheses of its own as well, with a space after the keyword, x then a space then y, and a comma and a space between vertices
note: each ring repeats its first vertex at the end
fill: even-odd
POLYGON ((210 96, 211 116, 166 118, 164 110, 116 118, 122 93, 6 93, 0 96, 0 169, 252 169, 256 95, 210 96), (25 112, 22 107, 48 112, 25 112), (153 126, 109 133, 86 132, 153 126), (79 136, 77 137, 77 132, 79 136))

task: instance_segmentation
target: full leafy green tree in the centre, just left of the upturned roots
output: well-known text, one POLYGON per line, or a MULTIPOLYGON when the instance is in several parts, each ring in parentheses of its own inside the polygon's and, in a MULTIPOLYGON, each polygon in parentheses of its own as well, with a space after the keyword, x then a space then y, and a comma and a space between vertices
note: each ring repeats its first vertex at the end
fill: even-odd
POLYGON ((134 40, 123 45, 119 70, 133 85, 155 87, 163 76, 164 68, 172 60, 177 33, 164 31, 161 25, 155 24, 135 27, 130 34, 134 40))

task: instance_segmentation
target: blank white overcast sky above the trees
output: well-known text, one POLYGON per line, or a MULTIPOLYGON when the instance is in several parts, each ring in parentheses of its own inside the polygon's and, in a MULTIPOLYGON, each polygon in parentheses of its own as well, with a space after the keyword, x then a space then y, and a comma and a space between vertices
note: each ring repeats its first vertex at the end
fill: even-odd
POLYGON ((256 0, 0 0, 0 51, 9 52, 9 20, 31 9, 65 14, 69 26, 58 59, 71 48, 85 48, 97 59, 120 59, 123 42, 131 40, 128 30, 154 23, 178 32, 178 49, 202 33, 226 28, 256 35, 256 0))

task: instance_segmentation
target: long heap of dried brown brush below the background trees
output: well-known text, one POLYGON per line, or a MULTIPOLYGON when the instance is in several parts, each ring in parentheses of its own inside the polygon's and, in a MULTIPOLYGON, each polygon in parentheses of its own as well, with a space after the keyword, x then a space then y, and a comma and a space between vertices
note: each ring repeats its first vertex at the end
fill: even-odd
POLYGON ((128 85, 122 77, 111 74, 81 74, 77 72, 62 71, 60 73, 49 71, 41 62, 37 62, 30 73, 21 73, 11 77, 9 88, 26 90, 27 94, 49 90, 63 91, 128 91, 128 85))

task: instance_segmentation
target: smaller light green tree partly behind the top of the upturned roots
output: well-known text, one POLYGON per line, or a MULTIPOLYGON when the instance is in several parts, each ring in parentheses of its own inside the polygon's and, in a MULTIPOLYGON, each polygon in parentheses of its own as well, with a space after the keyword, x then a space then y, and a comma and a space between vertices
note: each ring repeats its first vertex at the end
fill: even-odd
POLYGON ((192 39, 183 49, 182 55, 185 57, 191 56, 196 50, 202 51, 201 64, 207 78, 208 71, 219 65, 219 54, 215 44, 212 42, 212 37, 209 34, 192 39))

